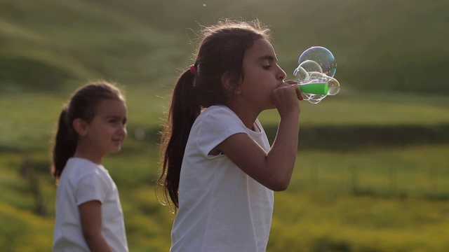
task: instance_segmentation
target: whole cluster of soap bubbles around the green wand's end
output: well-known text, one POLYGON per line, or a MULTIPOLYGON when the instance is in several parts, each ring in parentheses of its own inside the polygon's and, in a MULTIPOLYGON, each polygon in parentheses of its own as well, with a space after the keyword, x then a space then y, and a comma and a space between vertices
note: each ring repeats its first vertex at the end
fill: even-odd
POLYGON ((335 57, 330 50, 314 46, 302 52, 293 71, 304 100, 312 104, 321 102, 327 95, 340 91, 340 83, 333 78, 337 71, 335 57))

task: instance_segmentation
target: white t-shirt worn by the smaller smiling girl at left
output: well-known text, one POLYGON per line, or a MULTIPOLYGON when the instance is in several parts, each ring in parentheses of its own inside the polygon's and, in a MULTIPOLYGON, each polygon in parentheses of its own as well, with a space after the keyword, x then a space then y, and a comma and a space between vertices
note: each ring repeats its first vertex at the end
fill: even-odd
POLYGON ((53 251, 90 251, 81 229, 79 205, 91 200, 102 203, 102 235, 112 251, 128 251, 119 191, 102 165, 83 158, 70 158, 56 192, 53 251))

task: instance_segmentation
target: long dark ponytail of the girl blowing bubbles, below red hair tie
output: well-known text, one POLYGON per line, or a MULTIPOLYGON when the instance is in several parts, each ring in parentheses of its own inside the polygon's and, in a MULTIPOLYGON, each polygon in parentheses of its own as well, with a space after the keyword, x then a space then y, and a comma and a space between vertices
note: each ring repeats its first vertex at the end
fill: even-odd
POLYGON ((201 106, 194 91, 194 73, 187 70, 178 78, 173 90, 167 122, 161 134, 162 172, 156 183, 156 187, 163 187, 166 202, 170 197, 175 210, 179 207, 177 191, 185 146, 192 125, 200 113, 201 106))

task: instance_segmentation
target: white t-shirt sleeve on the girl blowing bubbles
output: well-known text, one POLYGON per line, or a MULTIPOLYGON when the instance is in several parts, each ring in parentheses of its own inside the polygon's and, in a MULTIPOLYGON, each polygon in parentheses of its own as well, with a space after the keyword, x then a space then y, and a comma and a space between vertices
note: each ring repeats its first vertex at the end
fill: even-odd
POLYGON ((240 118, 229 109, 218 108, 208 112, 200 124, 197 142, 199 151, 206 157, 213 148, 233 134, 247 134, 240 118))

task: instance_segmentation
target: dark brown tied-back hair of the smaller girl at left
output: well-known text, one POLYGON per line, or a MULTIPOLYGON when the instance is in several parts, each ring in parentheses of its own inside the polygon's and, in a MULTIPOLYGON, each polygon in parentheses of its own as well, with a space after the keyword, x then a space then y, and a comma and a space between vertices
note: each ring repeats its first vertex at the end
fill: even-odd
POLYGON ((72 158, 76 151, 78 135, 73 128, 73 121, 81 118, 88 123, 91 122, 95 117, 98 104, 104 99, 125 102, 119 87, 105 81, 98 81, 80 87, 63 107, 58 121, 58 130, 53 139, 51 174, 57 183, 67 160, 72 158))

